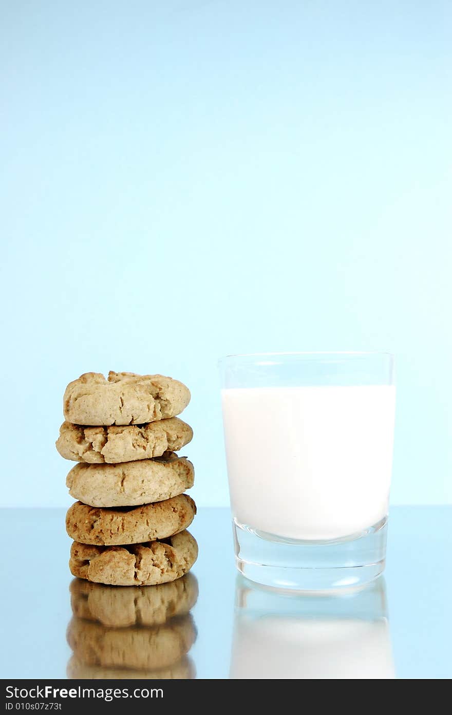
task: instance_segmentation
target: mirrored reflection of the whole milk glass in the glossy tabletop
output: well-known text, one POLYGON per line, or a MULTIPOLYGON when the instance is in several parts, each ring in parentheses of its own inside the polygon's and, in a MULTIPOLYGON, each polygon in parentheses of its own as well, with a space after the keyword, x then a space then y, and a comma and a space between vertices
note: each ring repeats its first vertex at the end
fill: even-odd
POLYGON ((393 679, 378 578, 337 596, 264 591, 237 578, 232 679, 393 679))

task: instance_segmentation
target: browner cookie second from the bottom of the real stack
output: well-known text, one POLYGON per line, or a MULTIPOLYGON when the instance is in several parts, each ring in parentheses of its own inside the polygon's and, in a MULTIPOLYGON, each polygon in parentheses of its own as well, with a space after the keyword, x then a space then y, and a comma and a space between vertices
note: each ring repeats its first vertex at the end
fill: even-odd
POLYGON ((99 546, 144 543, 184 531, 192 523, 195 513, 195 502, 187 494, 154 504, 115 509, 87 506, 76 501, 67 511, 66 531, 74 541, 99 546))

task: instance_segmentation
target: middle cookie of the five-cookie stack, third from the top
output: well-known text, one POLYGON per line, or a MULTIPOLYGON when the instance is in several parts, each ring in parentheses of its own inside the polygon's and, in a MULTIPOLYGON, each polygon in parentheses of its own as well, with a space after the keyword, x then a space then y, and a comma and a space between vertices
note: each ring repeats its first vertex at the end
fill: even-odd
POLYGON ((90 506, 137 506, 163 501, 193 486, 193 465, 166 452, 121 464, 77 464, 67 475, 69 494, 90 506))

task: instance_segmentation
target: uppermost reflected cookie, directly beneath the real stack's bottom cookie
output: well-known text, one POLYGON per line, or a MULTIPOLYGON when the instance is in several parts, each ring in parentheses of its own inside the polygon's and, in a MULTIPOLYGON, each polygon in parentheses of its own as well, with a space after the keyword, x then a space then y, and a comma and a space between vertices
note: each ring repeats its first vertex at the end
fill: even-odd
POLYGON ((159 586, 103 586, 74 578, 71 591, 72 613, 103 626, 160 626, 173 616, 184 616, 195 606, 198 595, 196 577, 187 573, 159 586))

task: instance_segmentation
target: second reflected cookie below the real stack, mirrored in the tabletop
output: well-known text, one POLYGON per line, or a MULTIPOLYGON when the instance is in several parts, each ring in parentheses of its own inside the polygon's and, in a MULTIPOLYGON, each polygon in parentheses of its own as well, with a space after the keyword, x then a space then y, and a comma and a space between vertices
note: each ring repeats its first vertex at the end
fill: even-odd
POLYGON ((84 664, 153 670, 178 663, 196 638, 192 616, 177 616, 154 628, 105 628, 72 618, 67 642, 84 664))

